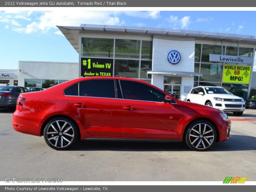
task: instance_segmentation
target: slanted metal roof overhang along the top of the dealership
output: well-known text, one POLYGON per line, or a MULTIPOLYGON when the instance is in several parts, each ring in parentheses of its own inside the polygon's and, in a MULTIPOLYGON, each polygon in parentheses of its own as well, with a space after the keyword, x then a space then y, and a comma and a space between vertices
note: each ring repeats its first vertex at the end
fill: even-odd
POLYGON ((115 25, 91 25, 81 24, 80 27, 57 26, 62 34, 68 39, 74 49, 79 51, 79 34, 83 31, 87 32, 115 32, 123 34, 149 34, 161 36, 173 36, 184 38, 195 38, 201 40, 225 40, 227 42, 243 42, 245 44, 256 45, 255 36, 216 33, 205 31, 191 31, 167 28, 150 28, 150 27, 130 27, 115 25))

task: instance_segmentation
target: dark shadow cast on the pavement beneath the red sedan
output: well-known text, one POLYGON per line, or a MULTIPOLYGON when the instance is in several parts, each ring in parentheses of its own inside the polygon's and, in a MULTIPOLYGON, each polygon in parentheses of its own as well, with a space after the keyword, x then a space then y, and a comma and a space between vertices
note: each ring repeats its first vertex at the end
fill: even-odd
MULTIPOLYGON (((215 143, 209 151, 256 150, 256 137, 231 135, 231 139, 215 143)), ((78 141, 74 151, 191 151, 183 142, 114 142, 78 141)))

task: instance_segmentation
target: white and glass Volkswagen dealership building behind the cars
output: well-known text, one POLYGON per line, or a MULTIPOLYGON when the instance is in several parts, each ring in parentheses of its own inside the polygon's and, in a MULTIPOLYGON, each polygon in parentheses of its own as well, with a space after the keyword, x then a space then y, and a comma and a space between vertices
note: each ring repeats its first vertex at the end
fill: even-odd
POLYGON ((197 85, 249 97, 254 36, 88 24, 58 28, 78 52, 78 63, 20 61, 10 84, 47 88, 82 76, 120 76, 146 81, 180 100, 197 85))

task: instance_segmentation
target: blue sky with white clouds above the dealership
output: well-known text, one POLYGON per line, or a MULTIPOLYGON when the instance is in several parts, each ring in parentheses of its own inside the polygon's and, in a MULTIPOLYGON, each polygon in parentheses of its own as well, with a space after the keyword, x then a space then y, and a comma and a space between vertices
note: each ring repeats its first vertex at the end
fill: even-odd
POLYGON ((256 36, 253 18, 255 11, 0 11, 0 68, 18 69, 19 60, 78 62, 78 53, 56 25, 125 25, 256 36))

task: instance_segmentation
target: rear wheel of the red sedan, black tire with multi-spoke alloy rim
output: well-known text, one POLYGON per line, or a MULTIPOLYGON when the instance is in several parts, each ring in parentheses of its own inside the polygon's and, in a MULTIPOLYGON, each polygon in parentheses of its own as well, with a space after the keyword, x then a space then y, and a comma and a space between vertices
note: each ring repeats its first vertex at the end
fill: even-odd
POLYGON ((44 127, 44 140, 56 150, 71 148, 77 140, 78 127, 66 117, 56 117, 44 127))

